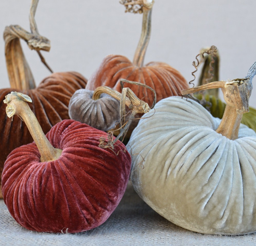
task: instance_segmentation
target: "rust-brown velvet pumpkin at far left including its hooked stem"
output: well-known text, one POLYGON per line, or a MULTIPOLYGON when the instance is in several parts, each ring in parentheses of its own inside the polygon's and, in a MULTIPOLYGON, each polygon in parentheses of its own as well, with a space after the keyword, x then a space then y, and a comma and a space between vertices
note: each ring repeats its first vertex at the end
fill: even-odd
MULTIPOLYGON (((35 9, 38 1, 32 1, 31 29, 35 30, 35 9), (33 28, 34 27, 34 28, 33 28)), ((33 99, 30 105, 35 112, 42 129, 47 133, 52 126, 63 119, 68 119, 68 104, 73 93, 84 88, 87 80, 77 72, 59 72, 46 77, 37 88, 29 65, 24 57, 20 38, 24 39, 31 49, 49 51, 49 40, 38 34, 38 31, 29 33, 18 25, 8 26, 4 31, 6 65, 11 87, 0 89, 0 177, 3 163, 7 155, 18 146, 31 143, 32 137, 26 125, 18 117, 13 121, 7 120, 6 106, 3 100, 6 94, 12 91, 23 92, 33 99)), ((0 180, 1 181, 1 180, 0 180)), ((0 189, 0 197, 2 197, 0 189)))

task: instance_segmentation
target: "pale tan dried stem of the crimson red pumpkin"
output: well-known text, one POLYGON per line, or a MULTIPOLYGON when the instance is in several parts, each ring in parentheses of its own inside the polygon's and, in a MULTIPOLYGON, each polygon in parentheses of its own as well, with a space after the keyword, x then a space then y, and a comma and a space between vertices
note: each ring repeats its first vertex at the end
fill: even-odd
POLYGON ((32 102, 31 98, 19 92, 11 92, 6 96, 4 103, 7 104, 6 114, 8 117, 18 115, 25 123, 32 135, 36 146, 41 154, 41 162, 52 161, 60 157, 62 150, 55 149, 44 135, 35 114, 26 102, 32 102))

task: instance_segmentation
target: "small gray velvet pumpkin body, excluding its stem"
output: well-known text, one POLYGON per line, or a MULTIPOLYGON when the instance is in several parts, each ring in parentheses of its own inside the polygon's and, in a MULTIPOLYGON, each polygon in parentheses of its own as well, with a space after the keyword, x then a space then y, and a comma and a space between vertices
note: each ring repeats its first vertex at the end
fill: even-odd
POLYGON ((92 97, 93 91, 77 90, 69 103, 70 119, 107 132, 119 122, 120 102, 105 93, 98 100, 92 97))

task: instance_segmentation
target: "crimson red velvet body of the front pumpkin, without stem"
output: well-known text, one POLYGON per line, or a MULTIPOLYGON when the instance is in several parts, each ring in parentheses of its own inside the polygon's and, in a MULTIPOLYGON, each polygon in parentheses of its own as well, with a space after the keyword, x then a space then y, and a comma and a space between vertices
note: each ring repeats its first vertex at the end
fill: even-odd
POLYGON ((82 232, 102 224, 121 200, 131 156, 121 142, 102 149, 105 132, 74 120, 57 123, 47 134, 62 149, 54 161, 40 162, 35 143, 13 150, 4 165, 6 206, 26 229, 82 232))

